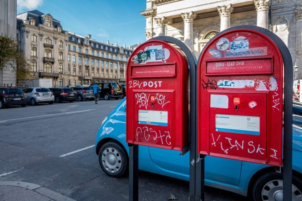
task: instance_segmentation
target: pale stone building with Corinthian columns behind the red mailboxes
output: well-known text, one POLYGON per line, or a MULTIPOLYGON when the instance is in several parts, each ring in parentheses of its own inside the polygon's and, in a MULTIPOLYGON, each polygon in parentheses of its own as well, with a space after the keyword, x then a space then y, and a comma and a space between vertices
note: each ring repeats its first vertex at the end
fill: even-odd
POLYGON ((271 30, 288 46, 302 78, 301 0, 146 0, 146 39, 172 36, 198 57, 218 32, 238 25, 271 30))

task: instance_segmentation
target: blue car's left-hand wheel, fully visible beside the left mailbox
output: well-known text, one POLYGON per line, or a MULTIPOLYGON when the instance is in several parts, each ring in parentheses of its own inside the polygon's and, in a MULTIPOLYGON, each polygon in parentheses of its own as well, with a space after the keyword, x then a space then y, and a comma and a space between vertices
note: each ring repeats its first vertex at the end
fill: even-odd
POLYGON ((110 177, 121 177, 128 170, 127 152, 116 142, 107 142, 101 146, 98 161, 110 177))

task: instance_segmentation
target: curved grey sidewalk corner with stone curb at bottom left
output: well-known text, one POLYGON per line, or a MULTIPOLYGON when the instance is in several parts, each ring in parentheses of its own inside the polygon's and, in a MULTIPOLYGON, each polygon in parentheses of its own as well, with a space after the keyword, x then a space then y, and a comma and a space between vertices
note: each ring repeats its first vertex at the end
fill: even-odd
POLYGON ((37 184, 20 181, 0 181, 0 201, 75 201, 37 184))

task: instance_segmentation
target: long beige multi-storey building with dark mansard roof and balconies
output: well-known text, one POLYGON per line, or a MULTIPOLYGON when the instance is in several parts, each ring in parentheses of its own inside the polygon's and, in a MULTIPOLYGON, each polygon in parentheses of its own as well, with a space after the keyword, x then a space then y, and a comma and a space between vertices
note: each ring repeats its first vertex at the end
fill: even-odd
POLYGON ((52 78, 54 86, 126 81, 132 48, 63 30, 58 20, 37 10, 17 15, 17 22, 32 78, 52 78))

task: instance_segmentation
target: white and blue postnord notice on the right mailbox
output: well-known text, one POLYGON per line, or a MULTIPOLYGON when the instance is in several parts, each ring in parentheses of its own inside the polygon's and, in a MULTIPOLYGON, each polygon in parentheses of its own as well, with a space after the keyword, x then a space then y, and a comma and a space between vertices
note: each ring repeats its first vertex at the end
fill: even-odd
POLYGON ((216 114, 215 130, 228 133, 260 135, 260 117, 216 114))

